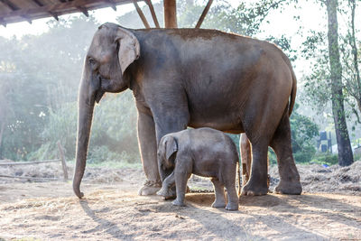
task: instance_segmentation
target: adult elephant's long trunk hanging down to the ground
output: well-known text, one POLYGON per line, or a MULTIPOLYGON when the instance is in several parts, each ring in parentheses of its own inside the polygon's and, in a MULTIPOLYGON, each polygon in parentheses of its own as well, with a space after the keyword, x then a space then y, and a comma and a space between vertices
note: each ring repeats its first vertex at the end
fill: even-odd
POLYGON ((92 88, 88 83, 89 81, 84 81, 84 79, 81 81, 78 100, 78 135, 73 190, 79 199, 84 196, 84 194, 80 191, 80 182, 83 178, 87 162, 89 136, 96 93, 94 90, 91 90, 92 88))

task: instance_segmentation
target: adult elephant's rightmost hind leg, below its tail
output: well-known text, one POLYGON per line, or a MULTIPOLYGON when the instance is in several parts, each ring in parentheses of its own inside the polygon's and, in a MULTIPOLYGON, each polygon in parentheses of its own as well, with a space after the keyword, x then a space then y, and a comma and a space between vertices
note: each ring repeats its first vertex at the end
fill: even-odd
POLYGON ((281 194, 301 194, 300 174, 292 155, 290 118, 287 112, 273 135, 271 147, 277 155, 280 173, 280 183, 274 191, 281 194))

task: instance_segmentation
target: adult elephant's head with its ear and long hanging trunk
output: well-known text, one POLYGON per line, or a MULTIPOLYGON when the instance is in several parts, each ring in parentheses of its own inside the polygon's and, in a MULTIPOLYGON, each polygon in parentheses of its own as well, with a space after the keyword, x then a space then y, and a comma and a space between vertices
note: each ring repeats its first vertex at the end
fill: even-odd
POLYGON ((79 86, 79 116, 76 167, 73 190, 81 198, 80 182, 85 171, 90 128, 95 102, 105 92, 117 93, 129 87, 124 73, 140 55, 139 42, 132 32, 105 23, 95 33, 84 62, 79 86))

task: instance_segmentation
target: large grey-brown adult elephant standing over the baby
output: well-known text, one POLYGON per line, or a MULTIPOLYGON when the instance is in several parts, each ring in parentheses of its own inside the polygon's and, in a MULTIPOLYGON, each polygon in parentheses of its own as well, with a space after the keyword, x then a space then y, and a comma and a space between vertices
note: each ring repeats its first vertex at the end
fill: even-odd
POLYGON ((244 195, 267 193, 269 145, 277 154, 281 177, 275 190, 301 193, 289 122, 296 79, 280 49, 216 30, 131 30, 105 23, 93 37, 79 87, 73 180, 79 198, 95 102, 105 92, 127 88, 133 90, 138 110, 139 146, 148 180, 140 195, 155 193, 167 175, 157 167, 162 136, 187 126, 248 136, 253 163, 244 195))

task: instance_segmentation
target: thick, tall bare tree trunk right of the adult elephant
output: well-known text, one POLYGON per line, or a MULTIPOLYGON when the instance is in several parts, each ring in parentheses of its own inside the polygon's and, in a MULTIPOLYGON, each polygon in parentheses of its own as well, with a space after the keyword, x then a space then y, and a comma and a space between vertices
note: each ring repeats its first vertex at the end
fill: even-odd
POLYGON ((332 114, 338 141, 338 164, 347 166, 354 162, 347 131, 342 93, 342 66, 338 48, 338 0, 327 0, 329 18, 329 66, 331 72, 332 114))

